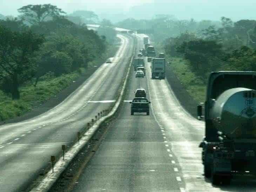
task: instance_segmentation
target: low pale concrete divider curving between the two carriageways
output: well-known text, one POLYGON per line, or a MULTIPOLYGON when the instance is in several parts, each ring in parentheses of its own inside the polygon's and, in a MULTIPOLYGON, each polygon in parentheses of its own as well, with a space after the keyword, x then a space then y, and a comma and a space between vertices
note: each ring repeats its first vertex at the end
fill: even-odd
MULTIPOLYGON (((135 44, 134 44, 134 47, 135 47, 135 44)), ((134 48, 133 48, 133 53, 134 53, 134 48)), ((108 113, 108 115, 106 115, 104 117, 101 117, 99 120, 97 120, 95 122, 95 124, 92 127, 90 127, 89 130, 87 130, 82 135, 79 142, 76 142, 68 150, 68 152, 65 153, 65 160, 63 160, 62 157, 60 157, 60 159, 54 164, 54 167, 53 167, 54 172, 52 172, 52 169, 50 169, 46 173, 45 177, 41 180, 40 184, 33 187, 31 189, 31 191, 33 191, 33 192, 47 192, 47 191, 49 191, 53 187, 53 185, 56 183, 56 181, 59 179, 61 174, 68 168, 68 166, 72 162, 73 158, 76 157, 76 155, 79 154, 80 150, 83 149, 87 145, 87 143, 93 137, 94 133, 96 133, 96 131, 98 130, 100 125, 104 121, 106 121, 107 119, 114 116, 117 109, 119 108, 119 105, 120 105, 120 103, 122 101, 122 98, 123 98, 123 95, 124 95, 124 90, 126 88, 128 76, 129 76, 129 73, 130 73, 130 68, 132 66, 132 61, 133 61, 133 56, 131 57, 131 59, 129 61, 129 67, 128 67, 127 74, 126 74, 125 80, 123 82, 122 89, 121 89, 121 92, 119 94, 119 97, 118 97, 115 105, 111 109, 111 111, 108 113)))

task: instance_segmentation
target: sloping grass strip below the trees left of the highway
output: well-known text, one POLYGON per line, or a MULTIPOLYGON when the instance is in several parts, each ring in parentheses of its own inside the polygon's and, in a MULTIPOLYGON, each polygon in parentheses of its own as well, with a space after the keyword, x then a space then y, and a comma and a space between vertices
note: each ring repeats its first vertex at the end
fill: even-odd
MULTIPOLYGON (((109 46, 106 53, 89 63, 88 68, 102 64, 109 57, 114 57, 118 48, 116 45, 109 46)), ((20 99, 18 100, 12 100, 11 95, 5 94, 0 90, 0 121, 21 116, 31 111, 33 107, 41 105, 61 90, 70 86, 85 71, 85 68, 80 68, 79 71, 63 74, 59 77, 45 75, 40 78, 36 87, 33 86, 32 82, 27 82, 20 87, 20 99)))

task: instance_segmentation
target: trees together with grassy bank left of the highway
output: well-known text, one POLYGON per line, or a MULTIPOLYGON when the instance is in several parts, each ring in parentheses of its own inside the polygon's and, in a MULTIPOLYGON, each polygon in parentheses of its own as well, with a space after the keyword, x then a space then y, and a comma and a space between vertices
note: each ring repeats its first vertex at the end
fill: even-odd
POLYGON ((99 33, 87 29, 85 22, 97 20, 93 12, 66 15, 51 4, 18 12, 0 20, 0 120, 41 105, 118 49, 106 21, 99 33))

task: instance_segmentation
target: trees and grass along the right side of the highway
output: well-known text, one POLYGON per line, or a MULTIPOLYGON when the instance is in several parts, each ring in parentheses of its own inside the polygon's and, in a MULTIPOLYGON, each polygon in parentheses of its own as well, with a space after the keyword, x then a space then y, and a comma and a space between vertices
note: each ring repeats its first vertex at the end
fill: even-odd
POLYGON ((256 20, 233 22, 177 20, 156 15, 152 20, 127 19, 119 27, 141 29, 153 36, 156 51, 166 60, 188 93, 203 102, 213 71, 256 71, 256 20))

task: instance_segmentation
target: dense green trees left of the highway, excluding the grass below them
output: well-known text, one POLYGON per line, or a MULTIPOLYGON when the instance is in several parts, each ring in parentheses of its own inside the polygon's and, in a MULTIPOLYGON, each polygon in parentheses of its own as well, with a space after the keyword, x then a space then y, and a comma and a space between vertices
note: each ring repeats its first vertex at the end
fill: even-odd
POLYGON ((36 86, 44 75, 56 77, 87 68, 106 50, 105 36, 68 20, 56 6, 28 5, 18 11, 22 19, 0 20, 0 89, 13 99, 19 99, 23 83, 36 86))

